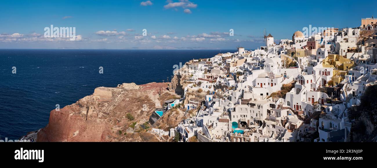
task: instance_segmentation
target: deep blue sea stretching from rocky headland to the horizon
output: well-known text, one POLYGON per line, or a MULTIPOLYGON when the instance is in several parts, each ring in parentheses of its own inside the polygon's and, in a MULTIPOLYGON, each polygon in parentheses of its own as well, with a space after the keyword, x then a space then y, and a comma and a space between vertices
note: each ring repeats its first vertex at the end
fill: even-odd
POLYGON ((46 126, 55 104, 63 108, 99 86, 162 82, 179 62, 235 51, 0 49, 1 138, 18 139, 46 126))

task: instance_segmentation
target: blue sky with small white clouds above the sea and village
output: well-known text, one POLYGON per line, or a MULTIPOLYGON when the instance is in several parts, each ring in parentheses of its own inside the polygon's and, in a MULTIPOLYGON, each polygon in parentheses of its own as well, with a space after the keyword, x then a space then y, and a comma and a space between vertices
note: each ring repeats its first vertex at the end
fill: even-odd
MULTIPOLYGON (((332 1, 21 0, 2 2, 0 48, 232 49, 263 45, 263 30, 290 39, 303 27, 358 27, 376 8, 332 1), (309 3, 308 3, 309 2, 309 3), (75 27, 76 40, 44 27, 75 27), (142 36, 143 29, 147 36, 142 36), (229 36, 229 30, 234 36, 229 36)), ((377 6, 369 1, 368 6, 377 6)))

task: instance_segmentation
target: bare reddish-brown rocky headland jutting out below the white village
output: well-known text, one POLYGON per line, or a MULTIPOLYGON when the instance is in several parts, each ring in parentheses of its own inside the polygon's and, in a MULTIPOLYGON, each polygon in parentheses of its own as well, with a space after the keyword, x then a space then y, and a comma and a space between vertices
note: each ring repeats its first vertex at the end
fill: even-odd
POLYGON ((165 100, 160 100, 164 98, 159 98, 158 93, 175 95, 166 88, 166 83, 123 83, 116 88, 96 88, 93 95, 59 111, 52 110, 49 123, 38 133, 37 141, 132 141, 124 133, 131 123, 145 123, 155 107, 161 107, 161 102, 165 100), (129 120, 126 117, 128 113, 135 119, 129 120))

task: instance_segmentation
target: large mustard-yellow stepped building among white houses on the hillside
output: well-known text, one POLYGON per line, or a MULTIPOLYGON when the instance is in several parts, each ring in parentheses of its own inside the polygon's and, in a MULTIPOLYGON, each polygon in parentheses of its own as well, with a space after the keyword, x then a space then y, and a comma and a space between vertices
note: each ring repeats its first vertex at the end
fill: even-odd
POLYGON ((350 59, 346 59, 338 54, 329 54, 323 62, 322 66, 325 68, 334 68, 332 81, 328 85, 337 85, 342 82, 344 76, 348 74, 348 70, 355 67, 356 64, 350 59))

